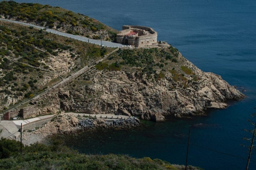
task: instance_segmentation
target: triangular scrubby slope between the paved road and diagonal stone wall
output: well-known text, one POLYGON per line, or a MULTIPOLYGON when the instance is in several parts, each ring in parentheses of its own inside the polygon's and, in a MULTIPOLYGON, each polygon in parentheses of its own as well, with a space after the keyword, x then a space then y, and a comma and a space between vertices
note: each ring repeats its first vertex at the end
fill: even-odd
POLYGON ((33 97, 112 50, 0 21, 0 108, 33 97))

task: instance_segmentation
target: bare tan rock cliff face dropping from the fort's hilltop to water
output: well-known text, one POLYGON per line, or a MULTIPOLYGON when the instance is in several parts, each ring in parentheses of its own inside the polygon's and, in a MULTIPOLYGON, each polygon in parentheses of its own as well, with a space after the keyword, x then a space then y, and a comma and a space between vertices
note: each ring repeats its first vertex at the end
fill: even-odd
POLYGON ((153 81, 145 74, 139 74, 139 71, 93 68, 69 86, 45 96, 44 100, 47 98, 50 103, 57 104, 52 108, 58 107, 64 111, 119 113, 163 121, 163 115, 200 115, 209 108, 226 108, 227 100, 245 97, 219 75, 203 72, 180 53, 177 59, 193 74, 186 74, 185 71, 183 77, 176 80, 177 73, 169 71, 161 79, 153 81), (81 83, 82 79, 87 80, 81 83))

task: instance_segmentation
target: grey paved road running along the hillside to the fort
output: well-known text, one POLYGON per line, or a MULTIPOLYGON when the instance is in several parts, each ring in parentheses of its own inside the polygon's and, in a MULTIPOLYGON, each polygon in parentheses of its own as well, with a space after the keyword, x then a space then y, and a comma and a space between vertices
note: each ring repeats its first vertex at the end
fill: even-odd
MULTIPOLYGON (((22 24, 22 25, 25 25, 25 26, 30 26, 30 27, 34 27, 34 28, 38 28, 38 29, 44 29, 44 27, 36 26, 36 25, 33 25, 33 24, 25 23, 25 22, 13 21, 13 20, 10 20, 10 19, 3 19, 3 18, 0 18, 0 20, 13 22, 13 23, 17 23, 17 24, 22 24)), ((59 32, 58 30, 54 30, 54 29, 46 29, 46 31, 49 32, 49 33, 62 35, 62 36, 68 37, 68 38, 73 38, 73 39, 76 39, 76 40, 79 40, 79 41, 89 42, 89 43, 96 44, 96 45, 103 45, 103 46, 106 46, 106 47, 118 47, 118 48, 119 47, 120 48, 121 47, 126 47, 125 45, 118 44, 118 43, 115 43, 115 42, 94 40, 94 39, 86 38, 86 37, 80 36, 80 35, 73 35, 73 34, 59 32)))

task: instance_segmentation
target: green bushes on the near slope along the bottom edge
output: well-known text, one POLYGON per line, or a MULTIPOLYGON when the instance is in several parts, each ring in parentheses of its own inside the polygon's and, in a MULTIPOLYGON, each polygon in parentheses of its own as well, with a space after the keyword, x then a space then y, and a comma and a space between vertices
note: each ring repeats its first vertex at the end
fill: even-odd
MULTIPOLYGON (((160 159, 148 157, 135 159, 128 155, 86 155, 79 154, 60 141, 52 141, 46 146, 35 143, 31 146, 22 146, 15 140, 0 140, 0 169, 66 169, 66 170, 179 170, 183 166, 172 165, 160 159)), ((189 166, 188 169, 198 168, 189 166)))

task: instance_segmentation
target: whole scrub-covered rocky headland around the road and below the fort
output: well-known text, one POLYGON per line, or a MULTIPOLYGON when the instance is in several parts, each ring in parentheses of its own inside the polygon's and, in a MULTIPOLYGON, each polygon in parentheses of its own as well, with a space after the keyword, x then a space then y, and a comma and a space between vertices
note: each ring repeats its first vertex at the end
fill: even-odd
MULTIPOLYGON (((15 2, 2 4, 9 6, 9 11, 0 11, 3 18, 49 25, 80 35, 86 32, 88 35, 84 36, 92 38, 102 31, 106 31, 102 33, 107 35, 106 39, 111 39, 108 33, 114 35, 100 22, 71 11, 63 12, 59 7, 36 4, 39 10, 33 11, 31 4, 25 5, 18 16, 11 13, 11 9, 17 8, 15 2), (30 17, 26 17, 28 13, 30 17)), ((7 110, 10 118, 65 111, 164 121, 165 115, 204 115, 207 109, 223 109, 228 107, 227 101, 245 97, 219 75, 198 69, 172 46, 114 51, 43 30, 1 24, 0 34, 5 41, 1 46, 0 108, 11 107, 7 110), (84 67, 88 69, 72 77, 84 67), (69 80, 51 88, 66 78, 69 80), (23 103, 16 105, 18 102, 23 103)))

